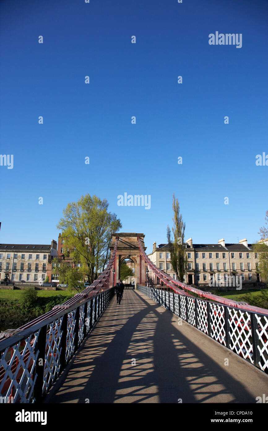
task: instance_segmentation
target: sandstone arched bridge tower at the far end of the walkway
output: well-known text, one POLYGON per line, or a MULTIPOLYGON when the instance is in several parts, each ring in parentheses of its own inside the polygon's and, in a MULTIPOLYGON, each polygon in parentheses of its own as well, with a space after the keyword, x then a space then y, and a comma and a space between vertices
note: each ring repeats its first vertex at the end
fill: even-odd
POLYGON ((142 278, 144 278, 144 259, 142 259, 142 255, 139 250, 139 242, 138 237, 140 237, 142 247, 146 250, 147 247, 144 247, 144 237, 145 234, 137 234, 137 233, 114 233, 112 235, 112 242, 110 246, 111 253, 114 250, 115 240, 118 237, 117 244, 117 256, 116 256, 116 265, 114 265, 115 274, 114 274, 114 284, 118 281, 118 277, 120 277, 120 266, 121 262, 125 259, 131 259, 135 265, 135 285, 142 283, 142 278))

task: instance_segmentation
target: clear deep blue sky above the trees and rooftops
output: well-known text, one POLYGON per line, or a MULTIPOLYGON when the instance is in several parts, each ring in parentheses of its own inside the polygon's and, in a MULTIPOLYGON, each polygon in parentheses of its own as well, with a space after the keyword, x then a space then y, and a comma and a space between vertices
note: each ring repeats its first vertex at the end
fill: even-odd
POLYGON ((173 192, 186 239, 259 239, 267 1, 2 0, 0 20, 0 153, 13 155, 0 166, 2 243, 57 240, 62 209, 86 193, 148 252, 166 242, 173 192), (242 47, 209 45, 216 31, 242 34, 242 47), (151 208, 118 206, 125 192, 151 208))

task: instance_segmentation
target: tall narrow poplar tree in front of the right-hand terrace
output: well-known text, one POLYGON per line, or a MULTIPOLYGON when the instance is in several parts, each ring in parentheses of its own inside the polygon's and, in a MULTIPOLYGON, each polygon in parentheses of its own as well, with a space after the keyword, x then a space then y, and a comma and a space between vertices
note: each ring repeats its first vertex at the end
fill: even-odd
POLYGON ((166 237, 170 252, 170 261, 173 270, 176 272, 179 281, 183 282, 183 276, 187 273, 187 256, 184 247, 184 232, 185 223, 182 220, 182 214, 180 214, 180 207, 178 198, 173 193, 173 227, 172 231, 167 225, 166 237))

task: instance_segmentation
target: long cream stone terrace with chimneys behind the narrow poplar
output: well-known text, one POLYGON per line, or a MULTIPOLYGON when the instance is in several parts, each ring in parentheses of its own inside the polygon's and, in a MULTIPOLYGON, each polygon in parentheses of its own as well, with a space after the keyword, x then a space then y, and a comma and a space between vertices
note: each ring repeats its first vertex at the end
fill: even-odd
MULTIPOLYGON (((224 238, 218 244, 193 244, 189 238, 185 244, 188 270, 184 280, 187 284, 208 284, 212 286, 230 285, 239 279, 242 284, 261 282, 258 265, 258 253, 253 252, 252 244, 246 238, 238 244, 225 244, 224 238)), ((153 244, 153 252, 148 257, 159 269, 173 278, 176 273, 170 263, 168 244, 153 244)))

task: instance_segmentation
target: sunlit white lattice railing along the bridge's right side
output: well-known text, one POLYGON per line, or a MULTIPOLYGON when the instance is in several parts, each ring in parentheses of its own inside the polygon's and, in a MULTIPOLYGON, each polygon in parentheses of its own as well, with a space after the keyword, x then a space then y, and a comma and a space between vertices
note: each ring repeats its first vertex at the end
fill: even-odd
POLYGON ((137 289, 268 374, 268 314, 153 287, 137 289))

